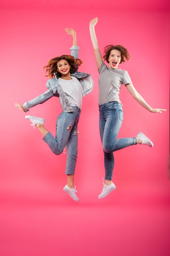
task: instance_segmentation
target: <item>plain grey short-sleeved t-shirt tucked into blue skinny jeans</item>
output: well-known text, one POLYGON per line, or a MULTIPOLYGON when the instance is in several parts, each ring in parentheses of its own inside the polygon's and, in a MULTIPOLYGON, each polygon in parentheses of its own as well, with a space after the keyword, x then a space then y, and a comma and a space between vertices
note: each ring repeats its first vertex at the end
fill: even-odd
POLYGON ((121 85, 132 83, 128 72, 120 68, 115 70, 108 68, 108 66, 102 62, 99 74, 99 105, 109 101, 121 103, 119 99, 121 85))

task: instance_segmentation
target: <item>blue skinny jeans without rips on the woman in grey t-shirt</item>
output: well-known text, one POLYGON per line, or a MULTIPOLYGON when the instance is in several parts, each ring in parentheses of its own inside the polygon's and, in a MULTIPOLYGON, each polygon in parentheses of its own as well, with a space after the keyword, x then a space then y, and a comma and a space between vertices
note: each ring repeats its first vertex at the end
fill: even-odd
POLYGON ((104 150, 105 180, 112 180, 114 168, 113 152, 137 144, 137 138, 117 139, 123 121, 120 103, 111 101, 99 106, 99 131, 104 150))

